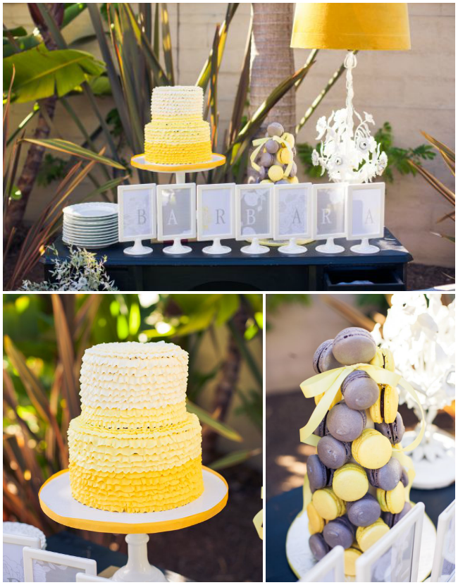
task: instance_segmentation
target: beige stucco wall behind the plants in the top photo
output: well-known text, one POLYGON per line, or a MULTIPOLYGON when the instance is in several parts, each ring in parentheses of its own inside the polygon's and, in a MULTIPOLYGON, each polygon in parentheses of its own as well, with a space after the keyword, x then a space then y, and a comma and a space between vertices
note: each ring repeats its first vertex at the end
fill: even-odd
MULTIPOLYGON (((172 42, 178 73, 177 82, 193 84, 209 54, 215 26, 223 20, 225 3, 170 3, 172 42)), ((415 147, 421 144, 420 130, 438 138, 454 148, 454 3, 409 3, 412 50, 406 52, 366 52, 358 56, 358 68, 354 75, 355 106, 359 111, 370 111, 379 128, 385 121, 392 124, 395 144, 399 147, 415 147)), ((9 27, 32 25, 26 5, 4 4, 4 21, 9 27)), ((221 73, 219 76, 219 109, 221 128, 227 128, 232 111, 233 97, 245 51, 249 27, 249 3, 240 4, 229 30, 221 73)), ((71 40, 90 34, 92 25, 87 13, 83 13, 65 31, 71 40)), ((98 54, 97 44, 85 45, 85 50, 98 54)), ((297 68, 306 60, 309 51, 296 49, 297 68)), ((330 75, 342 63, 344 51, 321 51, 297 94, 297 117, 303 116, 311 101, 326 84, 330 75)), ((95 120, 84 97, 76 97, 74 106, 81 113, 82 122, 91 128, 95 120)), ((341 78, 332 92, 323 100, 309 123, 299 133, 299 142, 315 142, 314 130, 319 116, 345 104, 345 80, 341 78)), ((101 111, 109 111, 111 99, 101 102, 101 111)), ((19 123, 30 106, 14 106, 12 123, 19 123)), ((69 123, 66 112, 58 106, 56 130, 63 129, 68 140, 81 140, 77 128, 69 123)), ((220 137, 223 132, 220 131, 220 137)), ((126 153, 127 155, 128 153, 126 153)), ((454 190, 454 181, 442 163, 440 156, 426 164, 448 187, 454 190)), ((302 178, 304 176, 302 175, 302 178)), ((87 189, 92 187, 89 182, 87 189)), ((36 216, 51 193, 36 188, 27 210, 27 219, 36 216)), ((454 223, 445 221, 440 226, 435 221, 451 211, 445 202, 421 178, 396 175, 393 185, 388 185, 386 225, 397 235, 414 255, 416 261, 426 264, 454 266, 454 245, 431 235, 442 231, 452 235, 454 223)))

